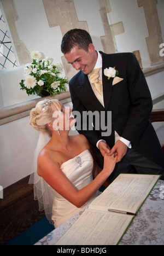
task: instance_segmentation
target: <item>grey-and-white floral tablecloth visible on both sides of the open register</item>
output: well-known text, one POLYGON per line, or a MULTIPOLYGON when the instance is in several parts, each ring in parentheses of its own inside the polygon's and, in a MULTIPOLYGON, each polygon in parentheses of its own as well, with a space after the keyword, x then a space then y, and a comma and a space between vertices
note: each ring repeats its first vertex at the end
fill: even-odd
MULTIPOLYGON (((42 238, 36 245, 55 245, 83 211, 42 238)), ((164 245, 164 181, 157 182, 119 245, 164 245)))

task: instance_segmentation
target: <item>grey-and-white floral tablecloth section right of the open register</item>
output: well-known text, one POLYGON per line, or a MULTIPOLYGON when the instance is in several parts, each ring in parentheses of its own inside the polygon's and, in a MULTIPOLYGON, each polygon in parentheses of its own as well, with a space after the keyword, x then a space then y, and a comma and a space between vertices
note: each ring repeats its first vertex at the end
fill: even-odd
POLYGON ((120 245, 164 245, 164 199, 159 181, 140 208, 120 245))

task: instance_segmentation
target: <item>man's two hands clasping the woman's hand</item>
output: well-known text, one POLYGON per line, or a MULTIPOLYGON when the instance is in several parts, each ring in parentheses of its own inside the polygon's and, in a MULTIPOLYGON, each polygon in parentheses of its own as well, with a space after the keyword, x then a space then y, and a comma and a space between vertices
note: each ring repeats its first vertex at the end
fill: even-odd
POLYGON ((120 162, 121 159, 126 155, 128 147, 122 141, 117 141, 112 149, 109 148, 108 144, 104 141, 98 143, 98 148, 103 155, 103 157, 108 155, 113 155, 117 157, 116 162, 120 162))

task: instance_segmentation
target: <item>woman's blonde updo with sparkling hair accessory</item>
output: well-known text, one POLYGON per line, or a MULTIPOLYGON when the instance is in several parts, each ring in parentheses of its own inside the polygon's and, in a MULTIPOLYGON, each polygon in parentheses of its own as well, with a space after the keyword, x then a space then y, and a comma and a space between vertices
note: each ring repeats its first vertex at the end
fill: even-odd
POLYGON ((58 100, 39 101, 30 113, 30 125, 39 132, 46 133, 51 137, 48 123, 53 121, 55 111, 61 111, 61 103, 58 100))

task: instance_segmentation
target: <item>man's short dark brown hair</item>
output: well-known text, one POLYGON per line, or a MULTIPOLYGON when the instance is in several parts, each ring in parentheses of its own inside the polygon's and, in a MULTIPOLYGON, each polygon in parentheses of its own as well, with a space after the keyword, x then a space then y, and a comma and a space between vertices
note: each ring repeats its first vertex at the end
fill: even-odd
POLYGON ((90 34, 85 30, 75 28, 68 31, 65 36, 63 36, 61 51, 63 54, 67 54, 71 52, 74 46, 77 46, 79 49, 83 49, 87 52, 89 44, 92 44, 90 34))

